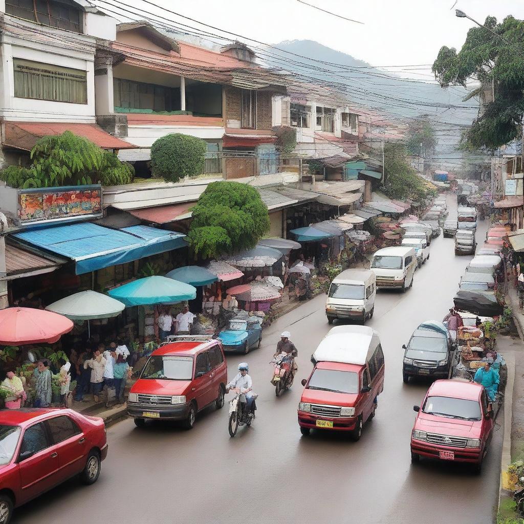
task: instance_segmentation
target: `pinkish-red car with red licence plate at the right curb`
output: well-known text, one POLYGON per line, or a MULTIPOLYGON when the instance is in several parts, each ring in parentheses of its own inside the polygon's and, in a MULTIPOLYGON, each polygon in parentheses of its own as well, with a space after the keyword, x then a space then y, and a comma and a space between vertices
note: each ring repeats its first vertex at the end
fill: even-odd
POLYGON ((493 437, 493 407, 484 387, 462 380, 435 380, 411 432, 411 462, 421 456, 470 462, 482 470, 493 437))

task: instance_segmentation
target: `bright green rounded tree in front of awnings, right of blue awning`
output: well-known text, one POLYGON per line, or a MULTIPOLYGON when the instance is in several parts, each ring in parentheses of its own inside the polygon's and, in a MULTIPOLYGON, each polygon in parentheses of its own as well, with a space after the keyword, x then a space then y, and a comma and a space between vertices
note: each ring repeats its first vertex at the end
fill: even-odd
POLYGON ((270 227, 260 193, 238 182, 211 182, 192 214, 189 244, 202 258, 255 247, 270 227))

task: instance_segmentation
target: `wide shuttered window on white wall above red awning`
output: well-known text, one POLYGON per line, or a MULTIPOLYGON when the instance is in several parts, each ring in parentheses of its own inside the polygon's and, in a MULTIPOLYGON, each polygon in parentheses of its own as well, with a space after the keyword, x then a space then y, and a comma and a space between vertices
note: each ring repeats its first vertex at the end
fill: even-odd
POLYGON ((15 58, 15 96, 53 102, 88 103, 87 73, 80 69, 15 58))

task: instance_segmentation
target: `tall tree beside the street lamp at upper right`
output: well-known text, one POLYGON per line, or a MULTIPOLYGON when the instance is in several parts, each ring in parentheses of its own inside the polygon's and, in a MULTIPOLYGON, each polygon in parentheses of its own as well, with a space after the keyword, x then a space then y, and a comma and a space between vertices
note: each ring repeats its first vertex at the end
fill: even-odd
POLYGON ((432 71, 442 87, 463 85, 474 76, 481 87, 465 100, 480 95, 483 111, 462 135, 465 149, 498 149, 522 133, 524 114, 524 21, 512 16, 501 24, 488 16, 484 27, 467 33, 460 52, 442 47, 432 71), (493 31, 493 32, 492 32, 493 31), (494 100, 483 93, 493 88, 494 100))

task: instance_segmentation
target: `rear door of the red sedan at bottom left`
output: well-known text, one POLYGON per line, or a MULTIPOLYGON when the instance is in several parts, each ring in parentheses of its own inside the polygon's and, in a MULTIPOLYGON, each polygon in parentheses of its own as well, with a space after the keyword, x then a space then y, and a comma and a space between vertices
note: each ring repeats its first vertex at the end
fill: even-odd
POLYGON ((53 417, 47 423, 58 453, 60 477, 65 481, 83 470, 89 442, 79 425, 68 415, 53 417))

